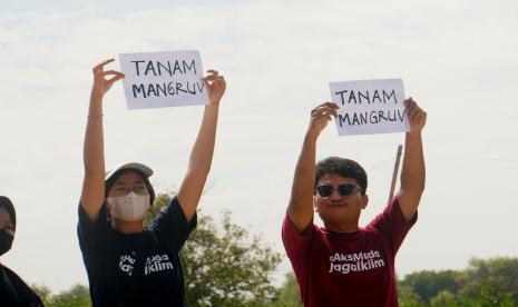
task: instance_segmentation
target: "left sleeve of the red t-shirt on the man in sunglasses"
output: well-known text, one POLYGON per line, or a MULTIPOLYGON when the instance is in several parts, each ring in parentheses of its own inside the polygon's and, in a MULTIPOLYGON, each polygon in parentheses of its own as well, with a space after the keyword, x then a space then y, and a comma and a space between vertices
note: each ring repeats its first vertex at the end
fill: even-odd
POLYGON ((315 225, 313 220, 307 226, 304 235, 300 234, 290 216, 286 212, 282 225, 282 241, 286 250, 287 258, 292 263, 293 269, 300 271, 304 264, 304 258, 311 249, 311 242, 315 236, 315 225))

